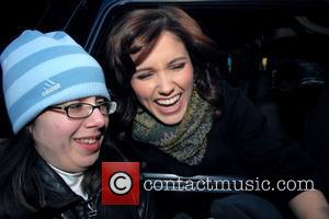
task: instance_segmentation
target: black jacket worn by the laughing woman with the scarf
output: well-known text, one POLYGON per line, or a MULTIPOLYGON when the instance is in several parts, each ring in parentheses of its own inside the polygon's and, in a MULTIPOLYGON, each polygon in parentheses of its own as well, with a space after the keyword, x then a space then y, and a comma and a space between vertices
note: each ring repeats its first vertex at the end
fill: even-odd
MULTIPOLYGON (((265 178, 275 186, 277 180, 315 180, 314 165, 295 145, 285 145, 274 138, 265 117, 240 89, 222 84, 223 114, 213 123, 207 135, 207 148, 201 163, 188 165, 160 151, 157 147, 126 139, 121 149, 131 160, 141 162, 143 172, 170 173, 180 176, 234 175, 248 180, 265 178)), ((319 188, 315 184, 315 188, 319 188)), ((300 191, 264 192, 271 201, 287 206, 300 191), (270 197, 268 197, 270 196, 270 197)), ((259 194, 259 193, 258 193, 259 194)), ((156 193, 158 207, 163 212, 185 211, 200 218, 202 209, 209 211, 213 199, 227 193, 156 193)), ((279 206, 281 207, 281 206, 279 206)))

